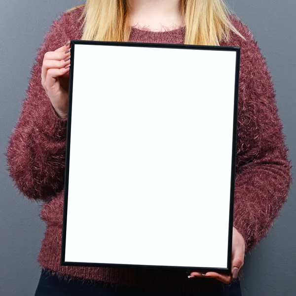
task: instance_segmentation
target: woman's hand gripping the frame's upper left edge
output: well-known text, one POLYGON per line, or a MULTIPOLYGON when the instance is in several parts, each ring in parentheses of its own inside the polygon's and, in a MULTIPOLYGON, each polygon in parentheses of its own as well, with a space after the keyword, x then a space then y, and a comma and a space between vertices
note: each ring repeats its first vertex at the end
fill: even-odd
POLYGON ((41 84, 57 115, 62 119, 68 115, 69 69, 70 41, 55 51, 44 54, 41 84))

